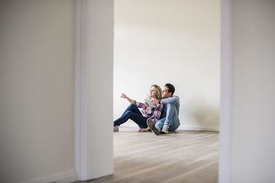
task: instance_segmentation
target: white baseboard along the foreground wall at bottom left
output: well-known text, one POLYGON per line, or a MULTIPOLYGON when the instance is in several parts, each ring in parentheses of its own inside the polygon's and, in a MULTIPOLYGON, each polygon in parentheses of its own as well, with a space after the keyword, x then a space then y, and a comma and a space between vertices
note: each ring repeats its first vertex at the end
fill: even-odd
POLYGON ((76 172, 66 173, 63 175, 54 176, 51 178, 43 178, 40 180, 33 180, 31 183, 68 183, 76 182, 78 180, 76 172))

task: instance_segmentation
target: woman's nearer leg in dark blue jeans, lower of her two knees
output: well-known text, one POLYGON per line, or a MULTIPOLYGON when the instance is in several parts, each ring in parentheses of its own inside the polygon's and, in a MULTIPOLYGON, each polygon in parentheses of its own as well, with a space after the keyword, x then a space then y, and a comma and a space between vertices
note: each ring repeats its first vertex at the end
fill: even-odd
POLYGON ((142 114, 137 114, 137 112, 133 112, 131 110, 128 110, 127 112, 125 112, 122 115, 122 117, 115 120, 113 122, 113 125, 114 126, 121 125, 121 124, 125 123, 126 121, 128 121, 128 119, 133 120, 135 123, 137 123, 137 125, 140 128, 146 128, 147 127, 147 123, 146 123, 147 118, 144 117, 142 114))

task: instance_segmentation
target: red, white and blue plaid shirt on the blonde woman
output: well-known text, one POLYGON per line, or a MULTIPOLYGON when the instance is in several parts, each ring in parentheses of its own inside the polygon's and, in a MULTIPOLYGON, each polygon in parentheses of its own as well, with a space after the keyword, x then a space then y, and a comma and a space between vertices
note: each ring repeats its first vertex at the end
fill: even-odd
POLYGON ((142 113, 144 114, 144 117, 151 118, 154 122, 157 122, 157 120, 159 120, 160 114, 162 113, 162 103, 157 104, 155 108, 145 107, 144 103, 138 101, 135 101, 133 104, 135 104, 137 108, 143 108, 142 113))

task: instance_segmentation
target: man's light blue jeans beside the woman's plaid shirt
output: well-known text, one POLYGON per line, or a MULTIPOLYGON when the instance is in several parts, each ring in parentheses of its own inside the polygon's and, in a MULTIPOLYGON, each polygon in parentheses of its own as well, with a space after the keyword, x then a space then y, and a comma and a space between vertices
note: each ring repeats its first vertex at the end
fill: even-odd
POLYGON ((169 125, 169 131, 177 130, 177 127, 180 125, 175 104, 166 104, 166 108, 166 117, 159 119, 155 123, 155 127, 159 132, 162 130, 164 125, 169 125))

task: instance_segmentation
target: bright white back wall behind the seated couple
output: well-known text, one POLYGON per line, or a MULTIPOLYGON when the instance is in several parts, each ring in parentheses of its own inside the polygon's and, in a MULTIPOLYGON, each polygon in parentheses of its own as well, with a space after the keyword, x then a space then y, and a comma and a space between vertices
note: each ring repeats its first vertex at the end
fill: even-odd
POLYGON ((181 128, 219 129, 220 3, 115 0, 114 119, 151 84, 174 84, 181 128))

